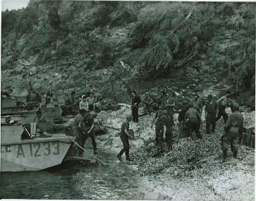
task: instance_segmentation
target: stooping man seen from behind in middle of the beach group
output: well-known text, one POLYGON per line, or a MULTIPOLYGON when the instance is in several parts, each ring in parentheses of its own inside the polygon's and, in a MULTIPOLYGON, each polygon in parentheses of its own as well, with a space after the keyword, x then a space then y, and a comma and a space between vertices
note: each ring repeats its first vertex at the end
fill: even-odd
POLYGON ((185 121, 187 131, 191 134, 193 133, 193 131, 195 131, 196 136, 199 139, 202 139, 202 135, 200 134, 199 131, 201 122, 200 113, 198 113, 198 111, 196 111, 196 109, 193 108, 192 104, 189 104, 189 110, 185 114, 185 121))

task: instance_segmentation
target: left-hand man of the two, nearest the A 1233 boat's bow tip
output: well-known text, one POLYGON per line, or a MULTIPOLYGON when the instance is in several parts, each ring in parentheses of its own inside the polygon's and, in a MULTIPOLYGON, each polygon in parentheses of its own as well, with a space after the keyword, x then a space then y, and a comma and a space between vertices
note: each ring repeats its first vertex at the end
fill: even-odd
MULTIPOLYGON (((83 131, 83 117, 85 115, 85 109, 79 110, 79 113, 76 115, 74 119, 74 135, 78 141, 79 146, 83 147, 85 143, 84 141, 84 131, 83 131)), ((78 156, 83 155, 83 150, 78 147, 78 156)))

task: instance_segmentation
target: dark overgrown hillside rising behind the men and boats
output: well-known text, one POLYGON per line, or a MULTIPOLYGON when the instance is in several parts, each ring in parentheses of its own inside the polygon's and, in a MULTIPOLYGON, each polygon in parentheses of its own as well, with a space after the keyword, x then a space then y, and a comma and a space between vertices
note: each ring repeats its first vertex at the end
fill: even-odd
POLYGON ((31 0, 2 12, 1 27, 2 88, 94 84, 127 102, 128 86, 224 84, 242 104, 255 99, 255 3, 31 0))

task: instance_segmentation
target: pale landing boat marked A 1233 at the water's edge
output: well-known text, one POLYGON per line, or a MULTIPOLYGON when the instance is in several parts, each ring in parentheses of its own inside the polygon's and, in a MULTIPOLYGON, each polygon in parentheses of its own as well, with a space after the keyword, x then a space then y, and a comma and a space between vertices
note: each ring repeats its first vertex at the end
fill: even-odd
POLYGON ((74 143, 72 137, 61 133, 24 140, 22 133, 23 126, 1 125, 2 172, 39 171, 61 164, 74 143))

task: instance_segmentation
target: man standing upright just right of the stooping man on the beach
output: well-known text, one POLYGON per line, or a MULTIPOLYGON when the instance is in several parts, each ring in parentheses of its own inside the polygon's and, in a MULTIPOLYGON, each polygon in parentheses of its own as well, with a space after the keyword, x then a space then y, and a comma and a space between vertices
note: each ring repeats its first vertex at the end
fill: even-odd
POLYGON ((206 133, 210 134, 210 128, 212 125, 212 133, 215 131, 216 126, 216 113, 217 103, 212 99, 212 95, 208 95, 207 103, 205 104, 205 119, 206 119, 206 133))

